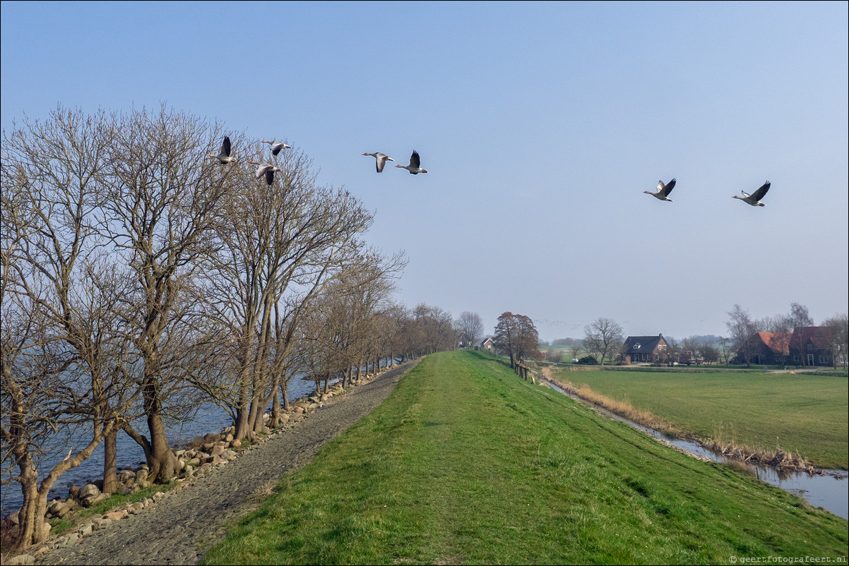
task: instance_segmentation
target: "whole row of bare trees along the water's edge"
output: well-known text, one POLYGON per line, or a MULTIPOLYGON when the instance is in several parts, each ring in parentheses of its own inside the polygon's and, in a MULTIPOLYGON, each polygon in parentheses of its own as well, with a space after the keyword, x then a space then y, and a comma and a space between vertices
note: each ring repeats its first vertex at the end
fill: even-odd
MULTIPOLYGON (((202 403, 242 439, 269 404, 278 423, 295 376, 326 387, 454 345, 445 311, 393 304, 405 259, 364 242, 373 217, 358 199, 319 186, 297 149, 273 158, 271 185, 220 165, 206 154, 224 133, 164 105, 59 107, 3 132, 0 433, 3 485, 23 492, 17 548, 43 540, 48 491, 101 442, 114 492, 121 431, 165 483, 166 423, 202 403)), ((264 155, 228 135, 241 162, 264 155)))

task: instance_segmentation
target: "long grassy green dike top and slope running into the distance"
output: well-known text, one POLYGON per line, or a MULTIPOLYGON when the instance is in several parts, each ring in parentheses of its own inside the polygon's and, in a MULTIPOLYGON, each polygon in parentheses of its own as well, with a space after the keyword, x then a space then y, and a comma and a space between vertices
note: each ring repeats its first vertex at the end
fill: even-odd
POLYGON ((476 352, 428 356, 202 563, 846 562, 847 522, 476 352))

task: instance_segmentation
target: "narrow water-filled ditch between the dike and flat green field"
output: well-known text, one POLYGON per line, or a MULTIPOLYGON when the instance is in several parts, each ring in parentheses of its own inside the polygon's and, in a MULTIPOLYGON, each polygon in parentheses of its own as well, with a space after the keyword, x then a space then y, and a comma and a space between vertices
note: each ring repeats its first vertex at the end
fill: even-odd
POLYGON ((838 517, 849 518, 849 484, 847 484, 846 472, 842 470, 818 470, 818 474, 807 474, 804 472, 779 472, 775 468, 769 466, 756 466, 748 462, 739 460, 730 460, 714 451, 706 449, 695 440, 680 439, 664 434, 659 430, 651 429, 639 423, 634 423, 632 420, 621 417, 615 412, 605 409, 603 406, 598 406, 591 401, 586 401, 578 395, 573 395, 566 391, 558 384, 555 384, 548 379, 543 380, 543 384, 548 385, 551 389, 569 395, 576 401, 587 403, 593 406, 596 411, 604 414, 607 417, 615 419, 621 423, 643 431, 658 440, 663 440, 666 444, 675 446, 676 448, 689 452, 695 457, 702 457, 718 463, 734 463, 735 466, 745 467, 757 479, 762 479, 767 484, 775 485, 782 490, 792 493, 793 495, 804 498, 813 507, 823 507, 829 513, 834 513, 838 517))

